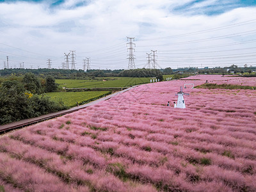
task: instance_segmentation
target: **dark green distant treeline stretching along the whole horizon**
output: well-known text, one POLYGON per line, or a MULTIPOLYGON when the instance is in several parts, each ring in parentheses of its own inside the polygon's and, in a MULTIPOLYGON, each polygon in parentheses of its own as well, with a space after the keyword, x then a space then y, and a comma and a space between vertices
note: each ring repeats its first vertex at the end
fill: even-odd
MULTIPOLYGON (((168 75, 168 74, 251 74, 256 70, 256 67, 237 67, 237 65, 231 65, 230 67, 214 67, 214 68, 197 68, 197 67, 184 67, 172 69, 170 67, 161 68, 161 69, 147 69, 139 68, 133 70, 63 70, 56 68, 38 68, 38 69, 29 69, 29 68, 4 68, 0 70, 1 76, 10 76, 15 74, 16 76, 24 75, 27 72, 31 72, 36 76, 52 76, 55 79, 94 79, 95 77, 156 77, 158 74, 168 75)), ((251 75, 252 76, 252 75, 251 75)))

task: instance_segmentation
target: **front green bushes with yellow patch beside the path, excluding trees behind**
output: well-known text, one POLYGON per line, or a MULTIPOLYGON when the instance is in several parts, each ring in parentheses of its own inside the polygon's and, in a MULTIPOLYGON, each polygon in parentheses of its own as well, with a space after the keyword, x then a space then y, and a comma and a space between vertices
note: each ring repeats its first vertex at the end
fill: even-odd
POLYGON ((0 88, 0 125, 67 109, 62 102, 29 93, 20 81, 4 81, 0 88))

